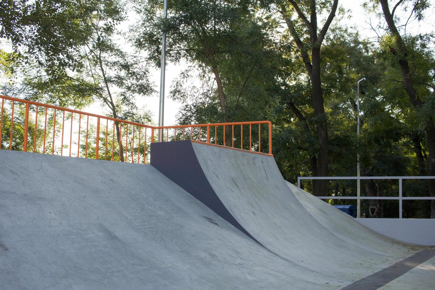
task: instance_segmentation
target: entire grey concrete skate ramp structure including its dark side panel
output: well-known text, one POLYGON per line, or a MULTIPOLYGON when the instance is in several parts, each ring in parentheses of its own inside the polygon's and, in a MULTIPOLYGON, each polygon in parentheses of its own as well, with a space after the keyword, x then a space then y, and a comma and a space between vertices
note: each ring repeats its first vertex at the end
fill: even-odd
POLYGON ((433 289, 435 250, 286 182, 267 154, 153 143, 151 165, 0 150, 4 289, 433 289))

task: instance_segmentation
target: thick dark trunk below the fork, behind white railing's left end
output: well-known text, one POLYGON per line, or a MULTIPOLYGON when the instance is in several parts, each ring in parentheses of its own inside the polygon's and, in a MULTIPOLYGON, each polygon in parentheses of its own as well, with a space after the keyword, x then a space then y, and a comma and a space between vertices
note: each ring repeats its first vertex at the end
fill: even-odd
MULTIPOLYGON (((319 151, 314 176, 328 176, 328 130, 326 124, 325 107, 321 89, 320 77, 320 47, 313 47, 311 51, 312 73, 311 73, 311 99, 313 102, 316 121, 316 134, 319 142, 319 151)), ((327 180, 315 180, 313 182, 313 194, 315 196, 327 195, 327 180)))

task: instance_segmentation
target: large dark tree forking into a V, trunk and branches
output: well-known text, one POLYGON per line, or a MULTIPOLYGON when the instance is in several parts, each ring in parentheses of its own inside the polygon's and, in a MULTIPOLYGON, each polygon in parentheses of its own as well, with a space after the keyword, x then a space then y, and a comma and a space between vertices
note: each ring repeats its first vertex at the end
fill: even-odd
MULTIPOLYGON (((311 156, 311 172, 313 176, 328 176, 328 126, 325 116, 325 104, 321 87, 321 46, 329 26, 335 17, 338 0, 316 1, 308 0, 296 3, 288 0, 284 3, 278 1, 279 12, 281 13, 294 42, 296 43, 302 62, 305 65, 306 73, 311 82, 311 100, 316 120, 316 137, 318 141, 318 153, 311 156), (325 23, 319 31, 318 13, 329 9, 325 23), (319 11, 318 11, 319 10, 319 11), (308 18, 305 13, 308 13, 308 18), (294 19, 296 13, 298 18, 294 19)), ((291 106, 298 119, 305 122, 303 114, 298 108, 291 106)), ((313 194, 321 196, 326 193, 326 180, 315 180, 313 182, 313 194)))

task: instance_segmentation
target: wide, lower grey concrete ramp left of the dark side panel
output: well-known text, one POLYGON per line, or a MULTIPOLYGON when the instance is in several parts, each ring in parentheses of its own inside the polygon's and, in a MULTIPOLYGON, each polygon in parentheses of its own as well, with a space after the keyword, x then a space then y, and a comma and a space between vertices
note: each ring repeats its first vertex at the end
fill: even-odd
POLYGON ((9 150, 0 162, 1 289, 342 285, 274 255, 149 165, 9 150))

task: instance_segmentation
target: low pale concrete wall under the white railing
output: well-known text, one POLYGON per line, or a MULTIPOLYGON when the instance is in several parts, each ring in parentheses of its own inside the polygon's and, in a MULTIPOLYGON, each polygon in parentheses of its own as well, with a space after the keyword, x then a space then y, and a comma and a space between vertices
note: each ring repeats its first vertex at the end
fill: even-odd
POLYGON ((435 246, 435 219, 355 219, 384 236, 406 243, 435 246))

